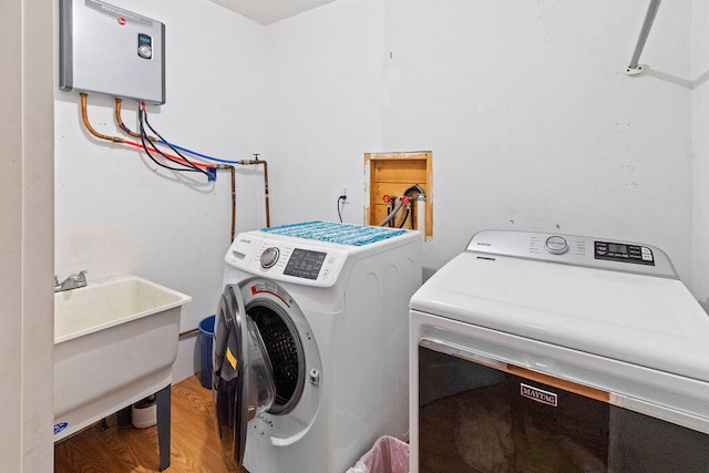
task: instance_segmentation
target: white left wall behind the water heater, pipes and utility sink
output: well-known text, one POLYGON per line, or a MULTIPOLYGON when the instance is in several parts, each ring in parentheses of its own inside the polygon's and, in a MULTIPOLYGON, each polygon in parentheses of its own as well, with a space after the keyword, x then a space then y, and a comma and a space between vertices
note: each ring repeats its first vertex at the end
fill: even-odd
MULTIPOLYGON (((153 127, 222 160, 263 154, 264 27, 206 0, 112 3, 165 23, 166 103, 148 106, 153 127)), ((183 307, 182 330, 196 328, 214 313, 220 294, 230 243, 229 173, 206 183, 99 141, 83 130, 79 103, 78 92, 55 88, 55 271, 64 277, 88 269, 90 280, 133 273, 188 294, 194 300, 183 307)), ((89 116, 99 132, 121 135, 113 104, 90 94, 89 116)), ((136 107, 123 103, 133 130, 136 107)), ((261 169, 240 167, 237 232, 265 225, 263 195, 261 169)))

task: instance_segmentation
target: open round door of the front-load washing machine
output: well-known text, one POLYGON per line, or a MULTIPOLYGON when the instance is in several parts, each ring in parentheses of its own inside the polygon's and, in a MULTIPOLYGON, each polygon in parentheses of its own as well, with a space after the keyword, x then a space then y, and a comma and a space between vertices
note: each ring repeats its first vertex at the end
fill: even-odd
POLYGON ((212 361, 217 432, 225 462, 235 470, 244 461, 248 422, 276 398, 268 353, 236 285, 227 285, 219 299, 212 361))

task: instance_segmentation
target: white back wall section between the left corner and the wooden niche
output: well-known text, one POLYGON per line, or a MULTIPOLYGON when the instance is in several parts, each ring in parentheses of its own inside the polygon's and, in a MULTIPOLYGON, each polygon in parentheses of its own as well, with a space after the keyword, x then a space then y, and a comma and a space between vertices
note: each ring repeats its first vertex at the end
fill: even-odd
POLYGON ((338 0, 266 28, 274 224, 362 223, 363 154, 381 151, 384 2, 338 0))

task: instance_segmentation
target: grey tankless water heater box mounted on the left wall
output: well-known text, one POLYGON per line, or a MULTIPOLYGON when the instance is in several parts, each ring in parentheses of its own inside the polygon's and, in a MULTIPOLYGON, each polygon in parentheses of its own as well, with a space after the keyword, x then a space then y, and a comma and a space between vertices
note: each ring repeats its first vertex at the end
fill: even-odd
POLYGON ((59 86, 165 103, 165 24, 97 0, 60 0, 59 86))

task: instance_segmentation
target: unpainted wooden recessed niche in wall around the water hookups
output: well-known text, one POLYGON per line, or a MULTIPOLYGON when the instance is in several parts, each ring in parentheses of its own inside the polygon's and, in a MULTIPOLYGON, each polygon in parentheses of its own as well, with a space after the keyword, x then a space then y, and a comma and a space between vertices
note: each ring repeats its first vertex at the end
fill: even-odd
MULTIPOLYGON (((433 239, 433 153, 431 151, 364 153, 364 222, 379 225, 387 218, 386 195, 400 197, 418 185, 425 193, 425 241, 433 239)), ((415 207, 415 202, 412 203, 415 207)), ((414 228, 418 228, 414 217, 414 228)), ((405 228, 410 228, 409 224, 405 228)))

